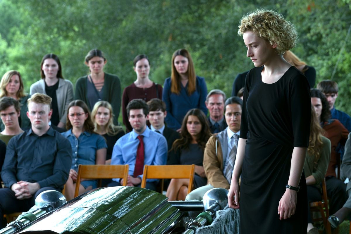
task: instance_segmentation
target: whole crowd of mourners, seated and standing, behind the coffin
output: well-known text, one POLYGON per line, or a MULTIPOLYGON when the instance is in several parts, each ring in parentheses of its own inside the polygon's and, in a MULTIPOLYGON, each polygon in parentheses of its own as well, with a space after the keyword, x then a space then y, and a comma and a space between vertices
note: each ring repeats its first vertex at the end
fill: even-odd
MULTIPOLYGON (((119 78, 103 71, 106 62, 104 53, 91 50, 85 58, 89 74, 78 79, 75 93, 71 81, 62 77, 55 54, 43 57, 42 79, 31 86, 30 95, 24 93, 19 72, 9 71, 2 77, 0 217, 27 211, 45 190, 62 192, 65 187, 67 200, 73 199, 79 164, 127 164, 126 184, 137 187, 145 165, 195 164, 193 184, 189 179, 165 181, 169 201, 202 200, 211 188, 229 189, 242 92, 240 98, 228 99, 219 89, 207 93, 205 79, 196 76, 189 52, 180 49, 172 56, 172 74, 164 87, 149 79, 148 57, 136 56, 137 79, 124 89, 121 99, 119 78), (127 133, 118 123, 120 107, 127 133), (189 186, 194 190, 187 194, 189 186)), ((321 200, 325 179, 333 227, 351 215, 351 183, 346 186, 341 180, 351 179, 351 118, 335 109, 337 97, 336 82, 318 83, 317 89, 311 89, 311 113, 306 113, 311 114, 307 196, 309 202, 321 200)), ((102 185, 121 186, 123 180, 106 179, 102 185)), ((147 179, 146 188, 157 190, 159 182, 147 179)), ((79 194, 97 187, 96 180, 82 180, 79 194)), ((308 217, 307 232, 313 233, 308 217)), ((0 228, 5 225, 1 222, 0 228)))

